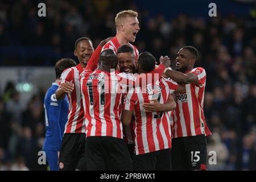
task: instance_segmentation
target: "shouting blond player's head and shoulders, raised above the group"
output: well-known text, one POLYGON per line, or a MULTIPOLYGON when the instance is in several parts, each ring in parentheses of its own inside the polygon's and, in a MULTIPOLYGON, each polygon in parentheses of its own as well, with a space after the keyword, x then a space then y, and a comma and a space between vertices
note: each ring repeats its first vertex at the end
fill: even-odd
MULTIPOLYGON (((134 42, 136 39, 136 35, 139 31, 139 21, 138 21, 138 13, 133 10, 124 10, 120 11, 115 16, 115 26, 117 27, 117 34, 113 39, 111 39, 105 46, 102 48, 104 49, 112 49, 115 53, 119 47, 129 44, 129 46, 133 47, 135 52, 135 57, 138 60, 139 51, 137 47, 130 44, 130 42, 134 42)), ((131 68, 130 68, 131 69, 131 68)), ((122 71, 120 72, 130 72, 133 73, 132 70, 130 71, 122 71)))

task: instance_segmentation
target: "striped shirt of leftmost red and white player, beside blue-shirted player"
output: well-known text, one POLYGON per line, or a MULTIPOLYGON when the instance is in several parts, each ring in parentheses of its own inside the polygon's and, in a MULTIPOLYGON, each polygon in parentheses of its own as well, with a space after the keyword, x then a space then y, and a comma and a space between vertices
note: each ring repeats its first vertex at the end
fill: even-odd
POLYGON ((75 85, 74 90, 67 94, 69 110, 64 133, 85 133, 84 108, 82 107, 79 81, 79 75, 82 71, 84 69, 81 64, 78 64, 76 67, 65 69, 60 77, 60 84, 69 81, 75 85))

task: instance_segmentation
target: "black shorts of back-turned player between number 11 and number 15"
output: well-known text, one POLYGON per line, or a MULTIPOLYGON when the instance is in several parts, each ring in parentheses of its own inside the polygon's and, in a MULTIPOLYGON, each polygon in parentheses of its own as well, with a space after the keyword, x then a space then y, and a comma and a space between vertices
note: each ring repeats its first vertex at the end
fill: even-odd
POLYGON ((171 171, 171 148, 133 155, 135 171, 171 171))

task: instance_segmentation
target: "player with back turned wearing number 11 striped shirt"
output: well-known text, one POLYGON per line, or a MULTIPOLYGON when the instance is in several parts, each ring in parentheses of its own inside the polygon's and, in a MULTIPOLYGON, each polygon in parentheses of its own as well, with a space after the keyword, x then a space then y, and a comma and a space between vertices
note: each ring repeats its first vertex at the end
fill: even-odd
POLYGON ((86 122, 88 170, 132 170, 120 121, 123 90, 115 69, 118 57, 112 49, 100 54, 98 68, 81 73, 86 122), (112 70, 111 70, 112 69, 112 70))

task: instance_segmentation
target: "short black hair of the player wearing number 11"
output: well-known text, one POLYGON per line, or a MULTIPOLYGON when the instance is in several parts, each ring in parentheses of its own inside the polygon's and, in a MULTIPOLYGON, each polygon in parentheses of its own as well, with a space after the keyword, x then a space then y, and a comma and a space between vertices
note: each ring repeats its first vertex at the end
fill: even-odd
POLYGON ((101 52, 98 62, 106 67, 110 67, 110 65, 113 64, 114 67, 116 67, 118 64, 118 57, 112 49, 105 49, 101 52))

